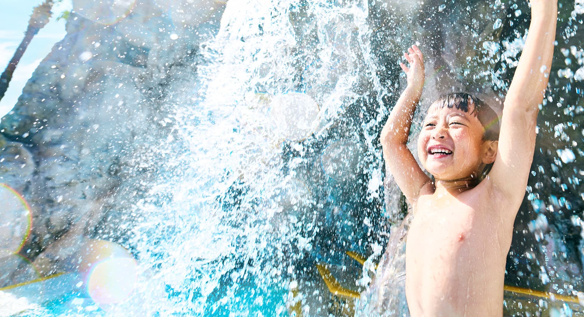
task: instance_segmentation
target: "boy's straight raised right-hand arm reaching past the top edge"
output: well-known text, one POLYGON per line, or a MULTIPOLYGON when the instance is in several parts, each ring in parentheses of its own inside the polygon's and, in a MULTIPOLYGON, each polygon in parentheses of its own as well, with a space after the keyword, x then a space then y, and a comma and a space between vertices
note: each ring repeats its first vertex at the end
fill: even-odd
POLYGON ((523 200, 533 161, 537 113, 550 74, 558 14, 557 0, 531 0, 530 5, 529 33, 505 98, 497 157, 489 173, 493 184, 517 204, 523 200))

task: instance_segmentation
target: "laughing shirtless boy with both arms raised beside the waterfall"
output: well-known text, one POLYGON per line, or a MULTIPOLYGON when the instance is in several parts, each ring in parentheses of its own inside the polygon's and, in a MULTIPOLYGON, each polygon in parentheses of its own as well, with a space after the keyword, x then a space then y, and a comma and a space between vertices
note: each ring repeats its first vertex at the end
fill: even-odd
POLYGON ((413 317, 503 314, 505 261, 533 160, 557 19, 557 0, 530 5, 529 35, 505 98, 500 134, 493 133, 493 110, 475 97, 451 95, 429 107, 418 155, 433 179, 406 147, 424 65, 418 47, 404 54, 408 86, 381 144, 413 210, 406 242, 406 298, 413 317))

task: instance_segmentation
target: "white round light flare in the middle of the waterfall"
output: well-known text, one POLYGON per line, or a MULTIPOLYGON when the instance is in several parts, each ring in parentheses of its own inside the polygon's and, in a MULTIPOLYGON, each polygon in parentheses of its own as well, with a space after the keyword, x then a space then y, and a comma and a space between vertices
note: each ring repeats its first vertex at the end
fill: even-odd
POLYGON ((299 141, 315 130, 319 109, 305 93, 290 92, 275 96, 268 111, 278 137, 299 141))

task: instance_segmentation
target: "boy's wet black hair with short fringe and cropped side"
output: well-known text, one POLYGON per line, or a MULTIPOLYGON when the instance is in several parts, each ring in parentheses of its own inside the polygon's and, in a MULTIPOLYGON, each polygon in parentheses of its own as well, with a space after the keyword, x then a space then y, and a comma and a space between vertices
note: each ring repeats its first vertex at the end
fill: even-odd
POLYGON ((499 116, 497 116, 495 110, 478 97, 464 92, 449 93, 440 96, 430 107, 455 107, 458 110, 468 113, 470 108, 469 104, 472 104, 470 114, 474 114, 478 118, 478 121, 481 122, 482 127, 485 128, 485 133, 482 137, 483 140, 498 141, 500 128, 499 116))

